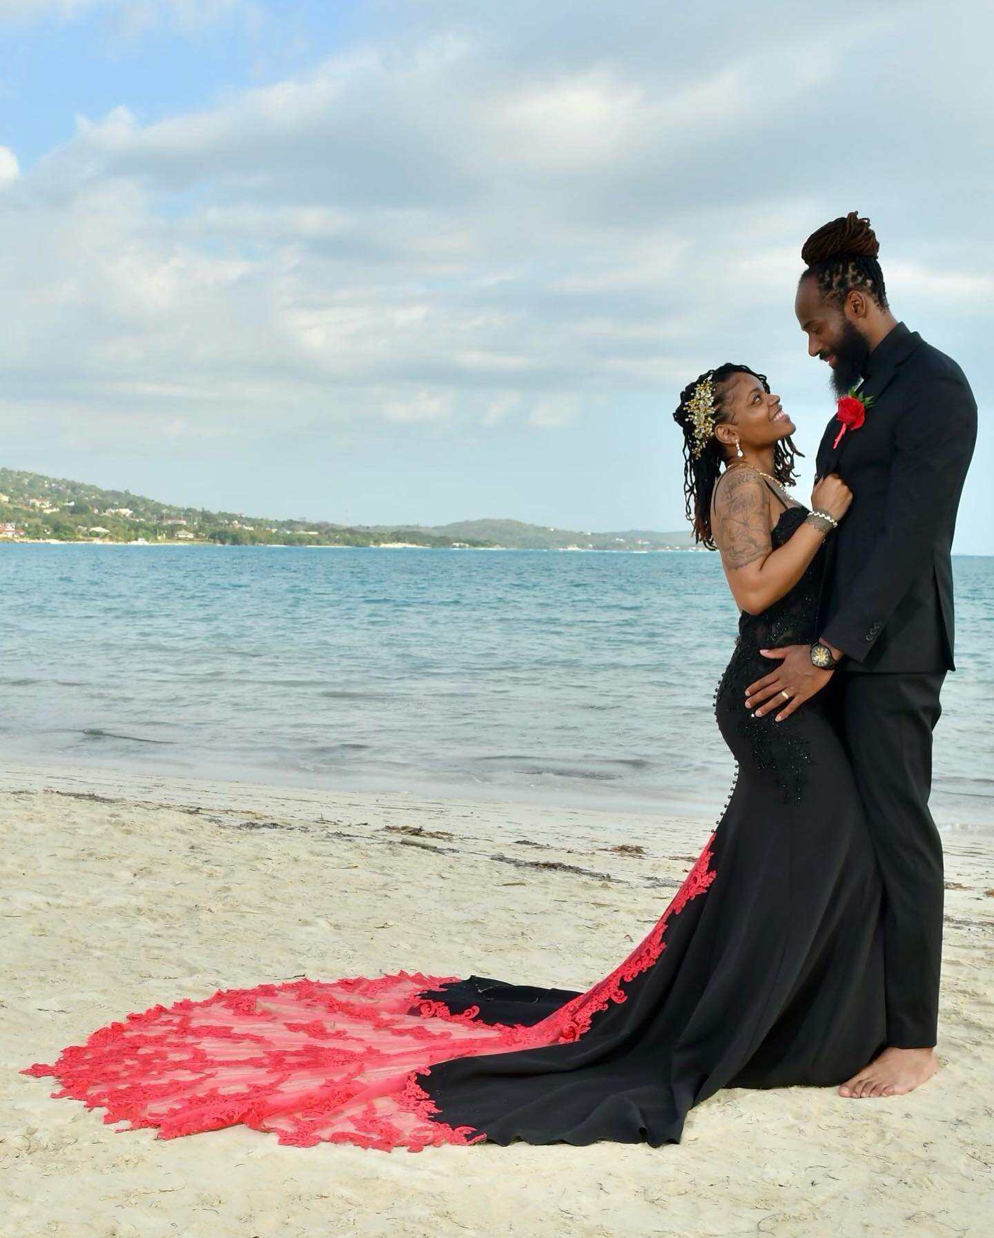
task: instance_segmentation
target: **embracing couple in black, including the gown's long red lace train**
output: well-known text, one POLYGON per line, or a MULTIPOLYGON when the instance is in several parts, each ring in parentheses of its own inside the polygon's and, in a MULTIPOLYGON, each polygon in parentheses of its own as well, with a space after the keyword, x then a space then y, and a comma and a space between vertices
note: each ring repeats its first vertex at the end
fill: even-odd
POLYGON ((811 509, 787 489, 795 426, 764 375, 708 370, 675 415, 687 514, 741 610, 714 696, 737 779, 619 966, 583 990, 406 971, 219 990, 27 1073, 160 1138, 241 1123, 382 1150, 657 1146, 719 1088, 884 1097, 933 1073, 932 729, 977 406, 891 313, 868 220, 821 228, 802 260, 798 323, 841 397, 811 509))

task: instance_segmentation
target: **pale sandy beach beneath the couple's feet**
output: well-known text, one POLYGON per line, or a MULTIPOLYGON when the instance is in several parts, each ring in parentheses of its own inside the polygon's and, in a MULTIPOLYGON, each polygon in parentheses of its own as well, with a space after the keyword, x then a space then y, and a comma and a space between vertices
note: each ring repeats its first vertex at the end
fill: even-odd
POLYGON ((282 1148, 118 1133, 48 1080, 181 997, 401 968, 586 988, 712 823, 651 813, 0 771, 2 1238, 979 1236, 994 1205, 994 839, 951 834, 942 1073, 921 1092, 728 1091, 680 1146, 282 1148))

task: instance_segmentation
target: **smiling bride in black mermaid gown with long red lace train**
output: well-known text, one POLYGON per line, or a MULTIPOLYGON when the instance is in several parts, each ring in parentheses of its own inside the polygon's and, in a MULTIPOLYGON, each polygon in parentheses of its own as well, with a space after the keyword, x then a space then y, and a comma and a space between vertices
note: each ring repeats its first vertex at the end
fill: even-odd
POLYGON ((791 498, 795 426, 744 365, 701 375, 675 417, 687 515, 741 610, 714 695, 737 781, 644 941, 586 992, 405 971, 220 990, 26 1073, 160 1138, 241 1123, 417 1151, 659 1146, 719 1088, 838 1084, 876 1056, 883 895, 849 763, 821 697, 782 721, 744 697, 764 649, 815 643, 822 545, 852 495, 833 475, 813 510, 791 498))

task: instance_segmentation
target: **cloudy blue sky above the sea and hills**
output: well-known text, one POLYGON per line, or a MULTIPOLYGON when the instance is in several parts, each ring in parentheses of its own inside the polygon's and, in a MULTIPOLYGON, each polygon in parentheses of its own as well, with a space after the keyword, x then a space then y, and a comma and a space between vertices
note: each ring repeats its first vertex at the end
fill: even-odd
POLYGON ((956 550, 994 553, 993 40, 987 0, 0 0, 0 463, 680 529, 672 410, 733 360, 805 500, 834 399, 800 249, 859 210, 973 385, 956 550))

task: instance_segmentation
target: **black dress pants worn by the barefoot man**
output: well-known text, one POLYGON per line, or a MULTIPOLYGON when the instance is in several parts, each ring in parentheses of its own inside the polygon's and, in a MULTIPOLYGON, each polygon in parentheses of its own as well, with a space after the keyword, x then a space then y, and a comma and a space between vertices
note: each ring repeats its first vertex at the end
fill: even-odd
POLYGON ((885 890, 888 1044, 935 1045, 942 962, 942 842, 928 794, 944 671, 836 676, 845 743, 885 890))

